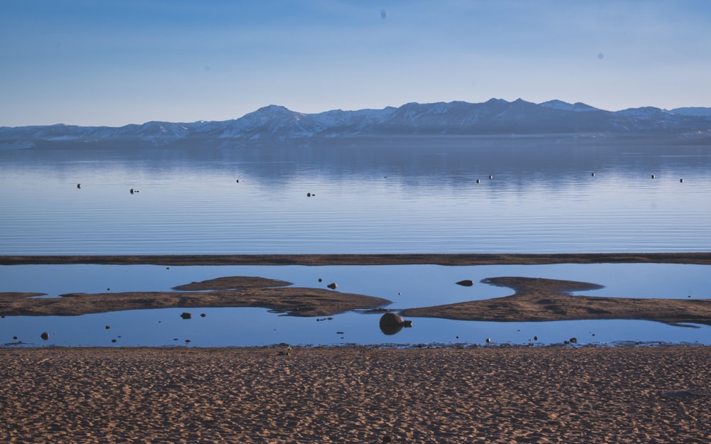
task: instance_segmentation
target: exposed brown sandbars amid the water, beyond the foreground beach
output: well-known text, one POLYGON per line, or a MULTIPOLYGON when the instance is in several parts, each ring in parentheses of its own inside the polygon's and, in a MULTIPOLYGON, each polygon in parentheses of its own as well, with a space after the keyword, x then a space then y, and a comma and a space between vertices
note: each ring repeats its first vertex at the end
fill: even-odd
MULTIPOLYGON (((6 264, 543 264, 671 262, 706 264, 707 253, 673 254, 446 254, 446 255, 299 255, 299 256, 0 256, 6 264)), ((516 276, 491 277, 483 283, 513 288, 504 298, 472 300, 432 307, 407 308, 408 317, 499 322, 634 319, 673 325, 711 325, 711 299, 643 299, 570 296, 570 291, 594 290, 594 283, 516 276)), ((383 310, 390 301, 340 293, 326 288, 287 287, 269 278, 225 276, 173 288, 176 291, 70 293, 61 298, 32 298, 42 293, 0 292, 0 315, 82 315, 145 308, 260 307, 294 316, 328 316, 351 310, 383 310)), ((336 289, 333 285, 332 290, 336 289)), ((327 284, 324 283, 324 287, 327 284)), ((0 288, 1 290, 1 288, 0 288)), ((624 296, 624 295, 622 295, 624 296)))

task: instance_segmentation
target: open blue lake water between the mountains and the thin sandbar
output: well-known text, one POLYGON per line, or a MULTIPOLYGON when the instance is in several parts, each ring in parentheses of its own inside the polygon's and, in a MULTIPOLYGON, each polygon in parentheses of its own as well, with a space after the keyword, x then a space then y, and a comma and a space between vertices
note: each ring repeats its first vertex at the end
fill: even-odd
POLYGON ((709 251, 711 147, 0 151, 0 202, 0 254, 709 251))

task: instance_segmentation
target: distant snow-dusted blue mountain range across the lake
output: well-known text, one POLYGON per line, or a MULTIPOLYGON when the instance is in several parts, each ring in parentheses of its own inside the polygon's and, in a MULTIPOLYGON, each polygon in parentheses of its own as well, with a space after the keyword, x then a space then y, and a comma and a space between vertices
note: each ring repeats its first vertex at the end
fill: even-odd
POLYGON ((226 121, 111 126, 0 127, 0 148, 63 146, 245 146, 353 136, 570 135, 711 138, 711 108, 641 107, 610 112, 584 103, 517 99, 482 103, 407 103, 317 114, 269 105, 226 121))

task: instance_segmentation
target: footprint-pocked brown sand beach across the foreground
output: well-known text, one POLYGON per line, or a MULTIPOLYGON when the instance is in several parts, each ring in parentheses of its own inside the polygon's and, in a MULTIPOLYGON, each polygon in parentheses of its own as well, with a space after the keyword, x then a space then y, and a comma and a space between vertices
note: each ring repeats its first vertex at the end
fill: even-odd
POLYGON ((283 352, 0 349, 0 442, 711 442, 711 347, 283 352))

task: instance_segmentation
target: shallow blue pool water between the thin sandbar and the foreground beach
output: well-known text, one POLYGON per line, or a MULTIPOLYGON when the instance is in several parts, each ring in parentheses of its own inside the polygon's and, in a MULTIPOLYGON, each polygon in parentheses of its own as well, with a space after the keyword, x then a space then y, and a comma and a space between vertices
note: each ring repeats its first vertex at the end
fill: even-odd
MULTIPOLYGON (((62 293, 169 291, 191 281, 223 276, 262 276, 392 300, 387 309, 441 305, 508 296, 510 288, 480 281, 494 276, 529 276, 599 283, 589 296, 711 298, 709 266, 683 264, 557 264, 542 266, 1 266, 0 291, 62 293), (468 278, 474 286, 456 282, 468 278), (319 283, 319 279, 321 282, 319 283)), ((383 313, 350 312, 321 318, 279 316, 260 308, 201 308, 183 320, 183 308, 129 310, 82 316, 5 316, 4 346, 171 346, 496 344, 550 345, 577 337, 579 345, 632 342, 688 342, 711 345, 711 327, 678 327, 648 321, 592 320, 493 323, 417 318, 416 328, 396 336, 380 329, 383 313), (204 314, 205 316, 202 316, 204 314), (106 326, 110 325, 110 329, 106 326), (378 327, 376 327, 376 325, 378 327), (48 340, 41 333, 48 332, 48 340), (189 342, 188 342, 189 341, 189 342)))

